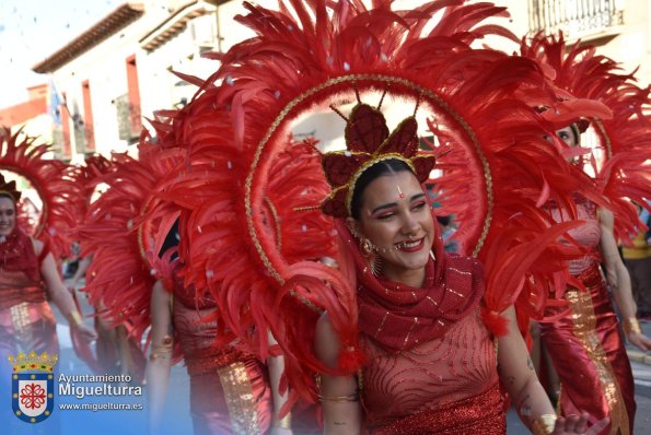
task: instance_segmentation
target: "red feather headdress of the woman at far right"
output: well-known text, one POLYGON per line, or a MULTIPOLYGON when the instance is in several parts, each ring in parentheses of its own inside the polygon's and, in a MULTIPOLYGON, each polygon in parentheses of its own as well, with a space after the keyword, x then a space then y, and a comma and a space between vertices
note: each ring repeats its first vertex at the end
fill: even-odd
MULTIPOLYGON (((565 127, 585 118, 591 120, 605 154, 601 167, 591 154, 595 180, 611 201, 608 209, 615 214, 616 235, 630 239, 639 227, 631 201, 648 207, 647 200, 651 199, 651 86, 640 87, 635 71, 623 73, 618 62, 596 55, 592 45, 567 45, 562 34, 538 33, 523 38, 521 55, 550 67, 555 85, 567 94, 601 102, 612 110, 612 116, 605 118, 579 113, 581 118, 567 119, 565 127)), ((549 116, 557 115, 549 110, 549 116)), ((586 126, 582 127, 584 130, 586 126)))

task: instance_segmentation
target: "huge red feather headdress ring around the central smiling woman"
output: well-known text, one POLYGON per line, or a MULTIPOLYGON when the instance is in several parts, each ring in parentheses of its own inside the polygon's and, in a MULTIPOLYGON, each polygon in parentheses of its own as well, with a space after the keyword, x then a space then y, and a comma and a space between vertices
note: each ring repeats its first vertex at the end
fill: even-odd
MULTIPOLYGON (((433 1, 410 11, 392 11, 390 1, 369 9, 356 0, 289 3, 291 11, 286 2, 279 3, 280 11, 245 3, 248 14, 237 20, 257 36, 213 56, 222 66, 177 114, 174 137, 189 152, 190 171, 197 177, 213 177, 216 189, 223 191, 222 200, 184 205, 195 209, 188 222, 195 249, 187 259, 189 273, 217 292, 216 298, 228 306, 226 327, 254 350, 257 346, 261 356, 266 331, 272 331, 286 355, 290 384, 313 398, 312 371, 327 368, 311 349, 314 310, 309 305, 327 309, 341 337, 339 368, 354 371, 361 357, 354 291, 340 273, 319 262, 289 263, 268 234, 261 210, 274 179, 271 162, 287 146, 292 120, 361 94, 388 93, 415 106, 419 103, 443 138, 469 144, 463 145, 466 154, 474 155, 465 174, 475 174, 477 181, 462 179, 473 191, 467 202, 477 201, 477 217, 467 225, 469 245, 490 251, 491 240, 508 228, 504 223, 533 222, 522 230, 514 224, 509 243, 499 246, 511 256, 501 269, 501 277, 509 279, 504 285, 489 282, 486 296, 492 313, 488 317, 498 330, 497 313, 519 297, 527 264, 543 250, 512 249, 515 242, 539 236, 532 226, 547 230, 547 217, 536 205, 553 198, 571 209, 571 192, 595 193, 589 180, 570 174, 560 153, 543 139, 553 134, 555 126, 532 107, 558 99, 546 86, 544 71, 528 59, 470 47, 487 34, 515 39, 503 27, 483 25, 490 16, 503 15, 503 8, 461 0, 433 1), (439 12, 438 23, 423 33, 439 12), (487 149, 500 158, 490 161, 484 153, 487 149), (513 188, 505 181, 492 184, 508 179, 510 171, 523 177, 513 188), (498 199, 510 207, 502 209, 504 215, 495 214, 491 201, 498 199), (527 260, 524 266, 518 264, 521 257, 527 260), (254 273, 257 270, 261 272, 254 273), (266 306, 265 292, 278 302, 266 306), (302 309, 305 301, 310 304, 302 309), (276 309, 279 306, 283 309, 276 309), (289 316, 287 321, 283 316, 289 316), (301 339, 294 334, 297 322, 304 331, 301 339)), ((571 225, 557 226, 537 242, 545 246, 571 225)))

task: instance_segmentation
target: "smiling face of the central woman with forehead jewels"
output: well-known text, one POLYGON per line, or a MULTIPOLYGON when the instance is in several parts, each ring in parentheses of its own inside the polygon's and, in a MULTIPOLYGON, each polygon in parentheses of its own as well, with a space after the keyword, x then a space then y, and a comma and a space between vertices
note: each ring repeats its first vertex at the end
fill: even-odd
POLYGON ((362 193, 359 221, 349 219, 349 224, 377 247, 386 278, 400 281, 404 273, 425 270, 434 223, 426 193, 410 172, 371 181, 362 193))

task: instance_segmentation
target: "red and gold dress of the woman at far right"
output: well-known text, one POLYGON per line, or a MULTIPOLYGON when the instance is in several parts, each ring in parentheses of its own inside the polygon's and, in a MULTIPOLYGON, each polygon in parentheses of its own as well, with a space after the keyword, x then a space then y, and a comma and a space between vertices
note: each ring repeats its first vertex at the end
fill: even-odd
MULTIPOLYGON (((632 434, 635 391, 630 363, 617 326, 606 281, 600 269, 597 245, 601 239, 596 208, 592 202, 578 204, 579 219, 585 221, 570 235, 591 249, 591 255, 572 261, 570 273, 581 280, 588 292, 568 287, 565 298, 569 311, 553 322, 542 322, 540 333, 561 381, 562 414, 588 412, 594 423, 608 415, 611 425, 603 434, 632 434), (580 367, 580 368, 579 368, 580 367)), ((558 210, 551 210, 560 220, 558 210)), ((548 308, 547 316, 567 308, 548 308)))

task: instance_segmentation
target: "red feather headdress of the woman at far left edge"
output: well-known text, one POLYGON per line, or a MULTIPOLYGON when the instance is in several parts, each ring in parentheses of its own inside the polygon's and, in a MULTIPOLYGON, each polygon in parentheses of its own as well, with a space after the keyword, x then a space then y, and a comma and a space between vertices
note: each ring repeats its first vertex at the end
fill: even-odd
POLYGON ((35 227, 23 230, 47 242, 55 258, 67 257, 71 246, 70 233, 83 210, 83 198, 74 183, 74 169, 61 161, 46 158, 45 154, 51 152, 50 146, 38 144, 37 138, 33 137, 25 136, 20 140, 21 134, 21 130, 12 134, 8 128, 0 131, 0 169, 26 178, 43 201, 35 227))

